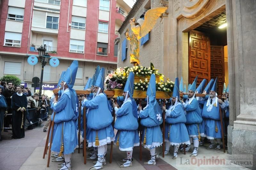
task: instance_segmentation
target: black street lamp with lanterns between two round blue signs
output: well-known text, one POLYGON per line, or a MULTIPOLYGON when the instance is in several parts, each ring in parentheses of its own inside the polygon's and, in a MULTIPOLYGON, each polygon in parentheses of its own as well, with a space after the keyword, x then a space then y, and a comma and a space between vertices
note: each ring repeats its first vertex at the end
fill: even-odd
POLYGON ((44 66, 48 62, 50 55, 48 53, 45 53, 46 48, 45 44, 44 47, 41 45, 41 47, 37 48, 38 56, 40 58, 40 61, 42 63, 42 69, 41 69, 41 78, 40 78, 40 87, 39 87, 39 100, 42 100, 42 85, 43 85, 43 76, 44 76, 44 66))

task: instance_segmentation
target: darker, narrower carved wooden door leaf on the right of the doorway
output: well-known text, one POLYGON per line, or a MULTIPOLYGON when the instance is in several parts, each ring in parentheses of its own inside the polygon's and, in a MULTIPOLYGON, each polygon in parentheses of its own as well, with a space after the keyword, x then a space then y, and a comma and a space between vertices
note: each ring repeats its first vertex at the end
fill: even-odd
POLYGON ((222 94, 225 81, 224 48, 223 46, 211 46, 211 78, 218 76, 217 93, 222 94))

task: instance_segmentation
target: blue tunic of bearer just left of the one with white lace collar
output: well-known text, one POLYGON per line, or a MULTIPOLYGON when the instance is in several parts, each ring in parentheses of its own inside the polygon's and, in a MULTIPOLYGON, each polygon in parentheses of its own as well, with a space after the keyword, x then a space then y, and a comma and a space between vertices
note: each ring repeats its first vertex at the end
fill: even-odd
MULTIPOLYGON (((192 98, 189 100, 192 100, 192 98)), ((200 135, 203 135, 202 132, 200 132, 203 119, 196 98, 194 98, 190 104, 188 104, 188 102, 183 103, 183 106, 186 111, 186 127, 188 129, 189 137, 196 137, 199 133, 200 135)))

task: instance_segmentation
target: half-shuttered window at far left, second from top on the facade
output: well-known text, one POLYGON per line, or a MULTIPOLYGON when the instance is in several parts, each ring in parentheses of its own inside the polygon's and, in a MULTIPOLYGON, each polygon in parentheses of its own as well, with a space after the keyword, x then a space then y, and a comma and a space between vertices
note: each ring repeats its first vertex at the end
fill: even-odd
POLYGON ((21 33, 5 32, 4 45, 20 47, 21 33))

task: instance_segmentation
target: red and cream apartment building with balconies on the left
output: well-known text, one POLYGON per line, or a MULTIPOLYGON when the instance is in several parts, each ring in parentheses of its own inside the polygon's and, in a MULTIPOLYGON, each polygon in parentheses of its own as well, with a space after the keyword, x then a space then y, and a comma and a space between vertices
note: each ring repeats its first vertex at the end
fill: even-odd
POLYGON ((31 55, 46 45, 59 66, 44 67, 43 84, 56 85, 60 74, 78 60, 75 88, 83 89, 97 65, 116 69, 117 30, 135 0, 2 0, 0 4, 0 77, 16 75, 31 87, 41 63, 31 55))

